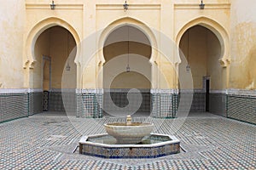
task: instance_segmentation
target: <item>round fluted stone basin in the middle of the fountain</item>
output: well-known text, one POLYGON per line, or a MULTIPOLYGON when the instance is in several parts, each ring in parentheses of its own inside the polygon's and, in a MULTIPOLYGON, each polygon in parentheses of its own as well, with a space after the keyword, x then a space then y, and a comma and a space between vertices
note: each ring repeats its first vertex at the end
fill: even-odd
POLYGON ((138 144, 152 132, 149 122, 113 122, 104 124, 107 133, 117 140, 116 144, 138 144))

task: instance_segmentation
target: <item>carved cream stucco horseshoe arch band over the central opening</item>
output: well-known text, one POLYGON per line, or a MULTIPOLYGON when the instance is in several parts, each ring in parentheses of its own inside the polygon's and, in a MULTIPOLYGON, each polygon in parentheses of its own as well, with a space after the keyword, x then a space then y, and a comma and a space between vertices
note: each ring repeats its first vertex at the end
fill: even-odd
POLYGON ((148 40, 150 42, 152 52, 151 57, 149 59, 149 62, 152 64, 154 63, 154 60, 157 58, 157 41, 154 36, 154 32, 145 25, 142 21, 131 18, 131 17, 125 17, 120 18, 118 20, 114 20, 111 24, 109 24, 100 34, 99 42, 98 42, 98 49, 99 49, 99 65, 103 65, 105 63, 104 54, 103 54, 103 48, 104 43, 106 42, 108 36, 118 29, 121 26, 133 26, 137 28, 138 30, 142 31, 143 34, 148 37, 148 40))

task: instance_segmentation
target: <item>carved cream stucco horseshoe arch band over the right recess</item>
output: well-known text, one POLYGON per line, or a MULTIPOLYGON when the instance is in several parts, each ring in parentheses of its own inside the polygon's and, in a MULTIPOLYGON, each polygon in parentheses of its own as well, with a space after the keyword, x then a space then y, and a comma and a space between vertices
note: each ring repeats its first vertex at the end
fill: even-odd
MULTIPOLYGON (((224 27, 218 24, 217 21, 211 20, 207 17, 200 17, 195 20, 189 21, 183 28, 177 33, 176 42, 180 43, 181 38, 185 31, 193 26, 204 26, 214 33, 218 37, 221 47, 221 57, 219 59, 220 65, 226 67, 230 64, 230 37, 225 31, 224 27)), ((181 59, 178 60, 178 64, 181 63, 181 59)))

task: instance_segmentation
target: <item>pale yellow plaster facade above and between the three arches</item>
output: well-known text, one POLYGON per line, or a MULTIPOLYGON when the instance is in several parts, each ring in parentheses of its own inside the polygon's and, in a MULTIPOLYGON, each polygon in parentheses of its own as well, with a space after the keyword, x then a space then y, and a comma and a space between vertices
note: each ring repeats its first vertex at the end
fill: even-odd
MULTIPOLYGON (((224 28, 229 28, 229 25, 226 22, 226 20, 229 20, 230 16, 230 10, 229 8, 226 8, 227 6, 229 7, 229 5, 226 5, 226 3, 229 3, 229 1, 219 2, 213 0, 211 1, 211 4, 209 4, 209 8, 206 8, 203 11, 198 10, 198 3, 195 3, 192 0, 173 2, 160 2, 154 0, 150 1, 150 3, 143 0, 129 1, 128 3, 131 5, 127 11, 124 11, 122 8, 122 3, 119 3, 117 0, 110 0, 108 3, 106 1, 55 1, 55 10, 50 10, 49 4, 47 9, 47 5, 45 3, 38 3, 33 0, 27 0, 26 3, 26 16, 31 20, 30 23, 36 23, 37 20, 42 20, 42 18, 56 16, 66 20, 71 26, 75 28, 76 31, 79 32, 79 35, 83 35, 83 38, 90 36, 96 31, 101 32, 111 23, 113 23, 113 26, 124 24, 124 20, 119 19, 132 18, 138 20, 138 22, 141 21, 142 24, 153 30, 154 37, 160 50, 166 47, 165 42, 163 42, 163 36, 167 36, 171 39, 171 41, 173 40, 174 42, 176 40, 178 31, 180 31, 181 28, 190 20, 200 16, 208 17, 212 20, 218 20, 218 22, 220 22, 224 28), (67 4, 69 4, 68 6, 73 5, 72 8, 63 6, 67 4), (84 8, 86 8, 86 10, 84 10, 84 8), (33 14, 35 9, 37 10, 37 14, 33 14), (46 10, 49 10, 49 13, 45 13, 46 10), (68 15, 68 13, 70 14, 71 12, 73 15, 68 15), (189 15, 187 14, 188 12, 189 15), (83 18, 84 20, 81 20, 83 18)), ((130 22, 130 20, 127 20, 127 22, 130 22)), ((28 23, 27 30, 34 26, 34 24, 30 23, 28 23)), ((105 39, 102 41, 105 41, 105 39)), ((99 48, 99 46, 97 42, 91 42, 90 48, 96 49, 99 48)), ((172 48, 174 47, 170 45, 171 51, 172 48)), ((86 53, 84 54, 87 55, 86 53)), ((78 87, 101 87, 99 84, 102 82, 98 81, 100 78, 97 72, 100 67, 96 66, 99 65, 99 60, 97 59, 98 57, 102 56, 95 55, 95 59, 90 59, 89 65, 88 63, 84 63, 83 56, 79 57, 77 61, 79 61, 81 64, 80 71, 81 75, 83 76, 82 81, 78 82, 78 87), (87 67, 84 68, 84 65, 87 65, 87 67)), ((154 79, 153 82, 159 82, 159 85, 157 85, 158 88, 176 88, 175 77, 177 77, 177 72, 175 71, 175 62, 178 59, 174 59, 174 56, 168 57, 171 57, 172 59, 171 64, 168 63, 168 61, 165 59, 165 56, 160 56, 160 54, 154 54, 153 56, 156 61, 154 63, 156 65, 152 65, 152 68, 154 68, 152 69, 152 75, 154 79)), ((154 62, 154 59, 152 59, 151 62, 154 62)), ((200 67, 196 66, 195 70, 198 69, 200 69, 200 67)), ((198 83, 195 84, 195 87, 199 88, 201 87, 202 83, 201 75, 196 74, 198 74, 198 71, 195 71, 194 73, 195 79, 198 79, 198 81, 195 81, 195 83, 198 83)), ((204 75, 206 74, 204 73, 204 75)), ((56 87, 58 86, 60 85, 56 85, 56 87)))

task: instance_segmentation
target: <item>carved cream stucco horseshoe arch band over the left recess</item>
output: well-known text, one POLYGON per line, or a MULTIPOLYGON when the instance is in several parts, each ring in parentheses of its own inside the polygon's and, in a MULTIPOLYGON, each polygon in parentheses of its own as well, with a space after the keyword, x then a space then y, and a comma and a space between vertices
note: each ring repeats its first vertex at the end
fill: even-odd
MULTIPOLYGON (((34 54, 34 47, 35 47, 35 43, 38 40, 38 37, 48 28, 52 27, 52 26, 61 26, 65 29, 67 29, 67 31, 69 31, 72 35, 73 38, 76 42, 76 44, 79 44, 80 42, 80 37, 78 32, 73 28, 73 26, 71 26, 70 24, 67 23, 67 21, 62 20, 60 18, 57 17, 49 17, 47 19, 41 20, 39 21, 35 26, 32 27, 32 30, 29 31, 28 36, 26 38, 26 47, 25 47, 25 54, 23 57, 23 67, 29 67, 29 68, 33 68, 33 65, 36 62, 35 59, 35 54, 34 54)), ((77 45, 77 54, 76 56, 78 56, 79 54, 79 46, 77 45)), ((76 62, 75 59, 75 63, 77 65, 79 65, 78 62, 76 62)))

